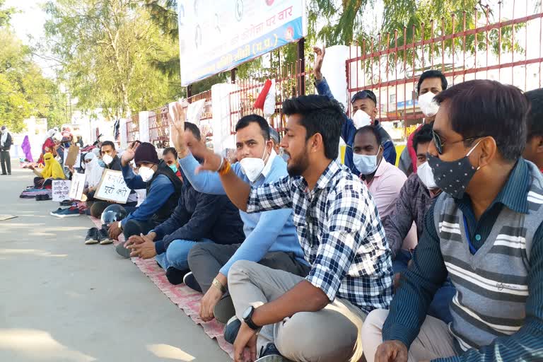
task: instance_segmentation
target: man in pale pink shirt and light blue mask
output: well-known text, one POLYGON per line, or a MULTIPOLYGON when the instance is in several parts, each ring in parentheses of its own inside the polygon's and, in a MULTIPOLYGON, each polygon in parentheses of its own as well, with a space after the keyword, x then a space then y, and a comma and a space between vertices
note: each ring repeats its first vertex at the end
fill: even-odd
POLYGON ((379 216, 390 214, 407 177, 395 165, 384 161, 380 134, 373 126, 356 131, 353 151, 354 165, 377 204, 379 216))

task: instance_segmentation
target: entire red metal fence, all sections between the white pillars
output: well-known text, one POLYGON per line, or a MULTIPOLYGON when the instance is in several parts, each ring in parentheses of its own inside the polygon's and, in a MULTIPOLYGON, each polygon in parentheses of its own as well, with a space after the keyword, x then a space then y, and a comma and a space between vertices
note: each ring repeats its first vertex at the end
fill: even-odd
MULTIPOLYGON (((475 11, 472 17, 458 17, 421 24, 420 28, 402 28, 394 33, 380 34, 350 47, 346 61, 349 99, 357 91, 372 90, 378 99, 378 118, 393 121, 396 137, 401 139, 422 120, 417 104, 416 83, 423 71, 438 69, 453 85, 475 78, 487 78, 518 86, 523 91, 543 86, 543 4, 536 13, 515 14, 498 3, 492 13, 475 11), (508 12, 505 14, 505 12, 508 12), (513 20, 504 20, 503 16, 513 20), (523 16, 522 16, 523 15, 523 16), (520 16, 515 18, 515 16, 520 16)), ((282 132, 285 117, 281 103, 288 98, 315 93, 313 60, 298 59, 275 70, 262 71, 236 82, 230 92, 230 131, 235 123, 250 113, 262 115, 253 104, 267 79, 276 81, 276 109, 271 126, 282 132)), ((193 95, 189 103, 205 99, 200 122, 202 135, 211 136, 211 91, 193 95)), ((350 104, 348 106, 350 108, 350 104)), ((150 114, 151 141, 168 145, 169 127, 166 107, 150 114)), ((349 109, 348 112, 351 110, 349 109)), ((137 115, 127 122, 128 140, 139 134, 137 115)))

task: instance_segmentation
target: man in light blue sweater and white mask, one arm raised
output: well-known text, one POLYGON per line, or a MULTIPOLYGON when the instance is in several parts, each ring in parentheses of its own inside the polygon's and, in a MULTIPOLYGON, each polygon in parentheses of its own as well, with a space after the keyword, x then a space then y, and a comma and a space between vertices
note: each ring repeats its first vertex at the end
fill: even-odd
MULTIPOLYGON (((197 171, 199 163, 187 145, 194 152, 201 151, 205 146, 184 132, 184 112, 176 112, 175 130, 178 135, 173 137, 173 141, 183 173, 199 192, 226 194, 216 173, 197 171)), ((277 156, 273 148, 266 119, 259 115, 247 115, 238 121, 235 132, 236 159, 239 162, 234 163, 232 169, 238 177, 250 185, 259 186, 276 182, 288 175, 285 161, 277 156)), ((232 264, 238 260, 259 262, 298 276, 305 276, 309 271, 298 243, 291 209, 257 214, 240 211, 240 217, 245 232, 245 240, 240 240, 240 244, 197 244, 189 252, 188 262, 192 273, 187 274, 184 281, 190 288, 204 293, 200 317, 205 322, 216 318, 226 323, 235 315, 232 298, 228 293, 227 276, 232 264)), ((227 329, 232 330, 235 337, 240 325, 241 322, 233 319, 227 329)))

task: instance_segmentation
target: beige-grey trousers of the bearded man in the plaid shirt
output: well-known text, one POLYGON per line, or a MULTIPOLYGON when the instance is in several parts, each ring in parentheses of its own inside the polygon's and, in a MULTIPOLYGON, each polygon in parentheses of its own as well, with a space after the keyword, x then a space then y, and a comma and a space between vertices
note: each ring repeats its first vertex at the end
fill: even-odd
MULTIPOLYGON (((241 320, 243 312, 275 300, 304 279, 255 262, 235 262, 228 273, 228 290, 241 320)), ((292 361, 343 362, 362 357, 361 330, 366 313, 347 300, 336 298, 318 312, 296 313, 282 322, 264 326, 257 353, 274 343, 292 361)))

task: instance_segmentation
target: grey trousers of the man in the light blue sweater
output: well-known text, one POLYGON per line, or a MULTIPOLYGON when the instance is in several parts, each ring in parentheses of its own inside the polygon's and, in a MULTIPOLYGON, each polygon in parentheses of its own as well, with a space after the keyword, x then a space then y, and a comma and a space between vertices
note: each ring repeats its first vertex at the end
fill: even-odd
MULTIPOLYGON (((211 288, 211 282, 224 264, 230 260, 241 244, 223 245, 202 243, 192 247, 189 252, 189 268, 205 294, 211 288)), ((310 268, 298 262, 296 257, 286 252, 268 252, 259 262, 271 269, 281 269, 290 273, 306 276, 310 268)))

